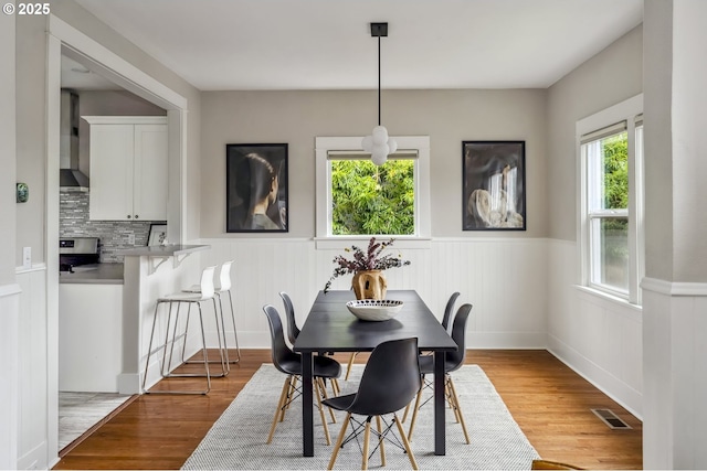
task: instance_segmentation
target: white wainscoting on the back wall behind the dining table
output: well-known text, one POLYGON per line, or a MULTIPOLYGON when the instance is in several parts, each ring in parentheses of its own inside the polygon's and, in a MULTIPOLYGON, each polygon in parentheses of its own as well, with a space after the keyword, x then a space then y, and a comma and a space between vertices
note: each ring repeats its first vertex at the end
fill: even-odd
MULTIPOLYGON (((316 249, 312 239, 202 239, 211 250, 202 267, 235 260, 233 296, 239 340, 244 347, 268 347, 263 306, 283 310, 279 291, 293 299, 302 327, 316 293, 334 269, 337 249, 316 249)), ((363 245, 363 244, 361 244, 363 245)), ((444 238, 428 249, 400 253, 412 265, 386 271, 389 289, 416 289, 441 319, 444 306, 460 291, 457 308, 474 304, 469 347, 544 349, 547 311, 545 239, 444 238)), ((333 289, 350 289, 350 276, 333 289)))

